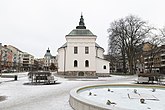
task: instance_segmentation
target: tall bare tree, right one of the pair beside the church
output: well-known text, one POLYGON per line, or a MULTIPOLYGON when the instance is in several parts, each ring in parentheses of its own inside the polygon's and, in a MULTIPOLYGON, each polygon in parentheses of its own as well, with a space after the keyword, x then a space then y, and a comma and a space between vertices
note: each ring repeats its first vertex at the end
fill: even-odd
POLYGON ((145 38, 150 34, 153 27, 148 26, 145 21, 140 18, 130 15, 125 19, 125 36, 126 36, 126 53, 129 62, 129 70, 131 74, 135 73, 135 55, 136 47, 145 40, 145 38))

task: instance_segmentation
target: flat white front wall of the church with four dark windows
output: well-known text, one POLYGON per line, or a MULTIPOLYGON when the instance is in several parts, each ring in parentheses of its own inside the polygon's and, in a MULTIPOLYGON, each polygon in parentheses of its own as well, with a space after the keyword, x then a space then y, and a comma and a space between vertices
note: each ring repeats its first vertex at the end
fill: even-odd
POLYGON ((66 71, 95 71, 95 38, 68 38, 66 51, 66 71), (78 54, 74 54, 74 47, 78 47, 78 54), (85 47, 89 47, 89 54, 85 54, 85 47), (78 61, 78 67, 74 67, 74 60, 78 61), (89 61, 89 67, 85 67, 85 61, 89 61))

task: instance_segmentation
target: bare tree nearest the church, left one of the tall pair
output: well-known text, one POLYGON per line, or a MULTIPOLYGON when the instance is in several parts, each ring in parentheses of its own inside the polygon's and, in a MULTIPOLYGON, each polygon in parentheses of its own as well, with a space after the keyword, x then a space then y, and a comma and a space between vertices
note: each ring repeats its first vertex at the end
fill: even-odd
MULTIPOLYGON (((108 53, 110 56, 122 56, 123 72, 126 73, 126 53, 125 53, 125 36, 123 35, 124 19, 114 21, 108 29, 109 43, 108 53)), ((113 65, 113 64, 112 64, 113 65)))

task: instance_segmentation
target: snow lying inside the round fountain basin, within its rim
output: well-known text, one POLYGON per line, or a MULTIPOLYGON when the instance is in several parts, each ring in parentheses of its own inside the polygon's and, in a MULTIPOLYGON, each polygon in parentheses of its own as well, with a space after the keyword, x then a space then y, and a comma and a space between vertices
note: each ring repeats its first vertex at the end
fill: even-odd
POLYGON ((79 95, 87 100, 95 103, 106 105, 110 100, 115 104, 109 106, 119 107, 128 110, 164 110, 165 109, 165 89, 156 89, 152 92, 152 88, 138 88, 138 87, 98 87, 88 88, 87 90, 79 91, 79 95), (110 91, 108 91, 110 89, 110 91), (137 90, 137 93, 134 93, 137 90), (91 95, 89 95, 91 93, 91 95), (145 99, 142 104, 140 99, 145 99))

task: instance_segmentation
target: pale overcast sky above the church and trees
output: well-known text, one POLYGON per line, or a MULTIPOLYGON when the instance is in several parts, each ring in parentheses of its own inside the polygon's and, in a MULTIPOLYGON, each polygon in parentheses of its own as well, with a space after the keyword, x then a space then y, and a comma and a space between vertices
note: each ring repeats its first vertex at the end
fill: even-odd
POLYGON ((152 26, 165 26, 165 0, 0 0, 0 42, 41 58, 49 47, 52 55, 79 23, 97 35, 107 51, 111 22, 130 14, 152 26))

